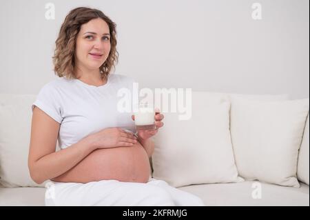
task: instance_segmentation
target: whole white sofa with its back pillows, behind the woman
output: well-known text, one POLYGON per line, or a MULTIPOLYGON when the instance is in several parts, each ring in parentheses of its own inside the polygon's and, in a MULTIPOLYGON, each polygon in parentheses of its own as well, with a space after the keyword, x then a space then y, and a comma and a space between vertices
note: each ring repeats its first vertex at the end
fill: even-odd
MULTIPOLYGON (((193 95, 193 117, 185 122, 185 127, 180 129, 178 124, 174 124, 174 116, 164 112, 165 129, 160 130, 154 139, 154 178, 164 179, 180 190, 196 194, 206 206, 309 206, 309 116, 304 114, 304 108, 308 108, 309 112, 309 99, 296 103, 287 101, 285 95, 209 92, 193 95), (214 108, 216 105, 219 106, 214 108), (276 109, 272 112, 269 107, 285 108, 283 112, 288 112, 282 115, 282 111, 276 109), (242 113, 238 112, 240 108, 242 113), (265 135, 255 136, 257 131, 251 127, 254 123, 249 121, 253 117, 249 113, 251 111, 262 112, 257 117, 254 115, 253 121, 255 128, 260 126, 267 130, 265 135), (291 124, 295 129, 280 130, 273 119, 262 127, 261 121, 270 121, 262 115, 269 113, 280 115, 275 120, 287 119, 280 127, 291 124), (206 114, 208 116, 203 117, 206 114), (240 117, 242 121, 238 121, 240 117), (300 130, 302 120, 304 124, 300 130), (238 134, 242 129, 245 129, 244 136, 238 134), (269 137, 273 129, 278 134, 269 137), (287 132, 294 134, 290 136, 287 132), (281 137, 283 140, 279 141, 281 137), (207 140, 201 141, 203 138, 207 140), (267 151, 262 150, 270 144, 272 147, 268 146, 267 151), (273 150, 278 149, 279 144, 281 152, 273 150), (243 148, 244 145, 247 149, 243 148), (251 152, 254 151, 257 153, 253 155, 251 152), (275 154, 275 159, 270 162, 265 154, 267 157, 275 154), (260 159, 256 160, 258 157, 260 159)), ((0 94, 0 206, 44 206, 44 184, 38 186, 30 179, 27 166, 31 105, 36 97, 34 94, 0 94)))

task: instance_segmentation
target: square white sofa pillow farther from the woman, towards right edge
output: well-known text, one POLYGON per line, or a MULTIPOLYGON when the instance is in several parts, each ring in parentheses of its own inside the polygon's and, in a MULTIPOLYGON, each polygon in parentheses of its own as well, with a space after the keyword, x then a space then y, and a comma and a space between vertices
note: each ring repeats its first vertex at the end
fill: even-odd
POLYGON ((309 99, 252 101, 234 97, 231 112, 231 139, 240 176, 298 187, 298 149, 309 99))

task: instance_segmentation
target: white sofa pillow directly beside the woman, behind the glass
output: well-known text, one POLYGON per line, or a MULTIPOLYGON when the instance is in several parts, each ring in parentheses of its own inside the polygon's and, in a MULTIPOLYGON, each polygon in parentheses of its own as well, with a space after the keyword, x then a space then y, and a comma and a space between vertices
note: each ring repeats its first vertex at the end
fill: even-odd
POLYGON ((231 146, 227 100, 223 94, 192 92, 189 120, 163 112, 165 126, 154 137, 154 178, 175 187, 242 181, 231 146))

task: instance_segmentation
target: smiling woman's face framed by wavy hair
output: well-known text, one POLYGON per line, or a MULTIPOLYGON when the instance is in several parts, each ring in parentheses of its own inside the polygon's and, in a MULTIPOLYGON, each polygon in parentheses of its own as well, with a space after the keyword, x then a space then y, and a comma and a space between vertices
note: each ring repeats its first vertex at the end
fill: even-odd
POLYGON ((107 23, 100 18, 84 23, 76 38, 76 67, 98 70, 109 56, 110 49, 110 30, 107 23))

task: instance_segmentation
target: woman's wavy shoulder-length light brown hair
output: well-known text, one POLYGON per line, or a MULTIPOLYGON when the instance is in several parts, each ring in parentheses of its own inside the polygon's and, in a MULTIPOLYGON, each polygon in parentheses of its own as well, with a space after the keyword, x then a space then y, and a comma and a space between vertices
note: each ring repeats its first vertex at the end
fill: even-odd
POLYGON ((107 78, 112 68, 115 68, 115 64, 118 62, 118 52, 116 50, 116 23, 103 14, 101 10, 79 7, 71 10, 65 17, 65 21, 63 21, 61 25, 59 36, 55 42, 56 48, 54 51, 53 63, 54 72, 57 76, 76 79, 76 73, 74 73, 76 37, 84 23, 97 18, 103 19, 110 29, 110 53, 107 60, 99 68, 102 79, 105 77, 107 78))

